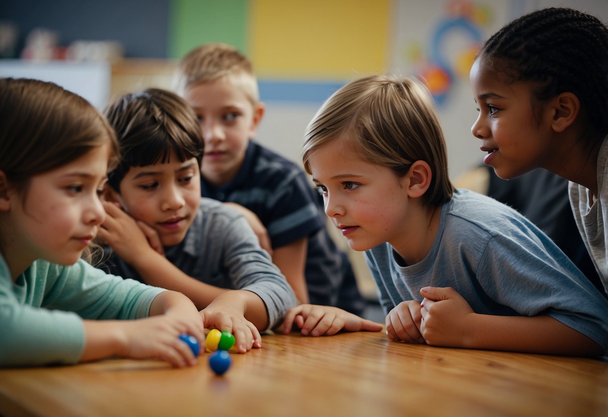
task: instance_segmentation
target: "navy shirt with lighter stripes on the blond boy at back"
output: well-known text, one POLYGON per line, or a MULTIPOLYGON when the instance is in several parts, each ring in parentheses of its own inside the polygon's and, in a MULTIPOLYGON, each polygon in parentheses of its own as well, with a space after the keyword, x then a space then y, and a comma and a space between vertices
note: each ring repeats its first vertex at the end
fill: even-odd
POLYGON ((362 313, 365 303, 348 257, 326 229, 319 193, 294 162, 250 140, 237 176, 217 188, 201 178, 201 193, 254 212, 268 230, 272 247, 307 236, 305 275, 310 302, 362 313))

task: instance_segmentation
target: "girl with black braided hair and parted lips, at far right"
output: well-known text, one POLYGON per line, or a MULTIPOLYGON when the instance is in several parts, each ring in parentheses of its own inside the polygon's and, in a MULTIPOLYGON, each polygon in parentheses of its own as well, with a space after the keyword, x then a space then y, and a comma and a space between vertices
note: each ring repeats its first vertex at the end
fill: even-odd
POLYGON ((572 9, 507 24, 471 69, 472 134, 504 179, 545 168, 570 180, 570 204, 608 291, 608 28, 572 9))

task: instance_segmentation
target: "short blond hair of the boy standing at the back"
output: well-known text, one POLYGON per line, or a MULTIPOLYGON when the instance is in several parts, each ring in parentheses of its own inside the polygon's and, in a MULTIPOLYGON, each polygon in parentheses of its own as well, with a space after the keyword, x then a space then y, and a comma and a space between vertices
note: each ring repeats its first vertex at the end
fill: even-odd
POLYGON ((260 101, 258 81, 251 61, 235 47, 223 43, 204 44, 188 52, 179 61, 176 90, 184 94, 192 86, 221 77, 227 77, 241 89, 252 105, 260 101))

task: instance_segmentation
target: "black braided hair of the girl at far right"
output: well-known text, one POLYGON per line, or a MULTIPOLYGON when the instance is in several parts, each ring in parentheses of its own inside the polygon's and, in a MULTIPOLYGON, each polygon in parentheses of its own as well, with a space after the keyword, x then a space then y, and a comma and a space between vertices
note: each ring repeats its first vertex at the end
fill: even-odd
POLYGON ((479 57, 515 81, 537 83, 535 98, 576 94, 599 133, 608 133, 608 28, 565 8, 531 12, 507 24, 479 57))

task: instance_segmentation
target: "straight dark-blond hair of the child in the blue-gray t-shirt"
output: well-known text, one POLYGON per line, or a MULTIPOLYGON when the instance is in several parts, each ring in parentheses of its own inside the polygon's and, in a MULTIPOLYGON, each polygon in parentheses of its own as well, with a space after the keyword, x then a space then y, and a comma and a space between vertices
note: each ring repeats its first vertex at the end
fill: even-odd
POLYGON ((371 164, 388 167, 401 177, 416 160, 430 165, 432 179, 423 199, 441 205, 452 198, 447 151, 435 106, 428 91, 412 78, 370 75, 331 95, 306 128, 302 160, 319 146, 341 137, 371 164))

